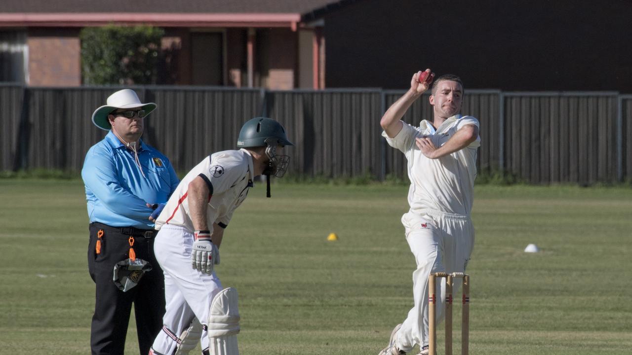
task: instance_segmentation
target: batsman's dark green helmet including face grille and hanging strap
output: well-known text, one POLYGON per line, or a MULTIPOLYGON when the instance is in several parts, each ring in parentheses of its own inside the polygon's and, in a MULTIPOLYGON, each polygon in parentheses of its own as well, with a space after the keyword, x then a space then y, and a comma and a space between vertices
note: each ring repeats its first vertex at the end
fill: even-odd
POLYGON ((281 123, 267 117, 255 117, 246 121, 237 138, 237 147, 240 148, 265 147, 265 155, 269 159, 264 171, 264 175, 268 178, 268 197, 270 197, 270 175, 281 178, 288 171, 289 155, 277 154, 277 145, 284 147, 294 144, 288 140, 281 123))

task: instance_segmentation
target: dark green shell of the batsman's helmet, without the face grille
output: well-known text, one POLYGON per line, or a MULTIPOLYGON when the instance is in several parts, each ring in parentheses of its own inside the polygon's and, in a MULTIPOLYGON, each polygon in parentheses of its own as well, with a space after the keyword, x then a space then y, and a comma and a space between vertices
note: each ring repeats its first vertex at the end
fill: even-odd
POLYGON ((270 144, 294 145, 288 140, 281 123, 267 117, 255 117, 241 127, 237 147, 267 147, 270 144))

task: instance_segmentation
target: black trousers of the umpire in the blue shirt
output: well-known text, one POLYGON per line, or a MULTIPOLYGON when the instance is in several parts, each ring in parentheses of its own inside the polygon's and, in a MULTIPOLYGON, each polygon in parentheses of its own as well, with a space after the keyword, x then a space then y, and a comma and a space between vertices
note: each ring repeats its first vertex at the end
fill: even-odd
POLYGON ((92 355, 123 354, 132 303, 141 355, 149 354, 162 329, 164 275, 154 256, 155 233, 153 230, 90 224, 88 271, 96 284, 97 295, 90 334, 92 355), (130 236, 136 257, 151 263, 153 270, 145 272, 136 287, 123 292, 116 287, 112 277, 114 265, 129 258, 130 236))

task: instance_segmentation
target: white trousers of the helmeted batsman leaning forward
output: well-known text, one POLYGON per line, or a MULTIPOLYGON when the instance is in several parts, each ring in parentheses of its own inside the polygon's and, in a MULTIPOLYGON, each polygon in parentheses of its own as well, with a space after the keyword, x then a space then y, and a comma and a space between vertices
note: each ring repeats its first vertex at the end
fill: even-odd
MULTIPOLYGON (((164 271, 166 312, 163 328, 154 340, 152 349, 159 354, 173 354, 178 345, 173 335, 179 336, 189 327, 193 317, 207 326, 210 302, 222 291, 215 272, 202 274, 191 267, 193 234, 184 227, 166 224, 154 241, 156 260, 164 271), (171 334, 169 334, 171 332, 171 334)), ((206 327, 204 327, 206 329, 206 327)), ((202 331, 202 349, 209 347, 209 336, 202 331)))

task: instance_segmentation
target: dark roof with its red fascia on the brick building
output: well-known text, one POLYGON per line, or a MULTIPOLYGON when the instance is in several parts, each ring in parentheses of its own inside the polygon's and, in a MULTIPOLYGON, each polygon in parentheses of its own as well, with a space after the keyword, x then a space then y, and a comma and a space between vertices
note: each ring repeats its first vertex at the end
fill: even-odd
POLYGON ((291 27, 356 0, 11 0, 0 27, 291 27))

